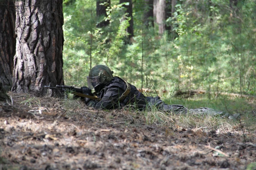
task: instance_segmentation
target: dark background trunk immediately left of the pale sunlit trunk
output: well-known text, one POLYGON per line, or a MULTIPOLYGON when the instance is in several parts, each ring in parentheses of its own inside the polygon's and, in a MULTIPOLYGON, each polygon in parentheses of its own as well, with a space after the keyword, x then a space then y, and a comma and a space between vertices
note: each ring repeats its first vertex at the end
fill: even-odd
POLYGON ((153 26, 154 27, 154 20, 153 20, 153 0, 145 0, 145 9, 144 9, 144 24, 146 27, 153 26))

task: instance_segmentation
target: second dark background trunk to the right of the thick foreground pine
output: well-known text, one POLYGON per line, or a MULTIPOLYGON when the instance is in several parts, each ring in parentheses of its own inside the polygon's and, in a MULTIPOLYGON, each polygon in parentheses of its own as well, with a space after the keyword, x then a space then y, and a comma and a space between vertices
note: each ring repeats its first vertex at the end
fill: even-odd
MULTIPOLYGON (((125 13, 128 14, 126 15, 126 17, 130 17, 129 26, 126 28, 126 32, 129 34, 128 39, 130 39, 131 37, 134 36, 133 34, 133 3, 132 3, 132 0, 119 0, 120 4, 124 2, 129 2, 129 5, 124 5, 124 7, 126 7, 125 13)), ((126 20, 126 18, 122 19, 122 21, 124 20, 126 20)))

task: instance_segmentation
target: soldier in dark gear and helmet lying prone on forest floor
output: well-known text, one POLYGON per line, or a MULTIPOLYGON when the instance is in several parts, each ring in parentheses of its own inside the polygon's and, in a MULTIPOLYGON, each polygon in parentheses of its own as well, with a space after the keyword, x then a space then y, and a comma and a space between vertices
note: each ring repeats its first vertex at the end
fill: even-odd
POLYGON ((92 68, 89 76, 87 76, 88 87, 81 87, 81 90, 83 94, 96 95, 101 100, 85 98, 85 104, 95 109, 118 109, 129 105, 140 111, 155 106, 162 111, 176 114, 199 113, 234 118, 228 113, 211 108, 202 107, 188 110, 179 104, 165 104, 160 97, 146 97, 134 85, 131 85, 123 78, 113 76, 113 73, 109 67, 104 65, 97 65, 92 68), (92 89, 95 90, 94 94, 92 89))

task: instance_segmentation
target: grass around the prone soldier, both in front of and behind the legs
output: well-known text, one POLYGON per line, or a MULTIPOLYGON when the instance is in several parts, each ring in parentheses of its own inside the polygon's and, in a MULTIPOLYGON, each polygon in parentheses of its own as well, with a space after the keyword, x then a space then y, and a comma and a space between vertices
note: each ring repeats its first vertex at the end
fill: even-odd
MULTIPOLYGON (((17 98, 17 97, 16 97, 17 98)), ((14 99, 16 99, 14 98, 14 99)), ((77 114, 86 111, 92 111, 92 116, 95 117, 98 111, 85 106, 84 102, 78 99, 63 98, 54 99, 51 101, 48 98, 33 97, 24 95, 18 96, 19 103, 29 106, 34 110, 47 109, 47 111, 58 110, 60 114, 67 118, 76 116, 77 114)), ((121 110, 101 110, 99 115, 109 123, 118 122, 126 123, 127 125, 157 125, 162 127, 173 127, 179 129, 202 129, 202 130, 216 130, 219 132, 234 132, 239 131, 248 132, 256 129, 256 104, 253 100, 249 101, 245 98, 231 99, 229 97, 219 96, 217 99, 209 100, 204 97, 196 97, 194 99, 176 99, 171 98, 164 100, 168 104, 181 104, 188 109, 195 109, 199 107, 209 107, 220 111, 225 111, 229 114, 239 113, 240 120, 228 119, 222 116, 209 115, 195 115, 195 114, 174 114, 161 111, 156 107, 151 107, 144 111, 133 109, 133 106, 127 106, 121 110), (242 125, 242 126, 241 126, 242 125)))

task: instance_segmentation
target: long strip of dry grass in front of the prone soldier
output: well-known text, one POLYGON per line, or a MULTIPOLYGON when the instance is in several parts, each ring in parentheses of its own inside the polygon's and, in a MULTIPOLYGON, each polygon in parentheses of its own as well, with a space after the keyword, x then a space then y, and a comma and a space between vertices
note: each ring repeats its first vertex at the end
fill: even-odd
MULTIPOLYGON (((206 131, 217 130, 218 132, 241 132, 239 120, 229 120, 222 116, 195 115, 195 114, 174 114, 159 111, 152 107, 150 110, 137 111, 132 106, 127 106, 121 110, 95 110, 88 108, 79 99, 56 99, 49 97, 34 97, 29 94, 15 94, 9 92, 9 96, 19 102, 20 105, 29 106, 36 112, 48 114, 59 114, 72 117, 81 113, 97 113, 97 118, 105 118, 112 121, 121 118, 120 123, 157 125, 165 127, 175 127, 180 129, 203 129, 206 131)), ((94 115, 95 117, 95 115, 94 115)), ((242 116, 242 126, 244 132, 255 130, 254 115, 246 114, 242 116)))

